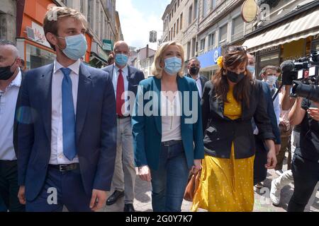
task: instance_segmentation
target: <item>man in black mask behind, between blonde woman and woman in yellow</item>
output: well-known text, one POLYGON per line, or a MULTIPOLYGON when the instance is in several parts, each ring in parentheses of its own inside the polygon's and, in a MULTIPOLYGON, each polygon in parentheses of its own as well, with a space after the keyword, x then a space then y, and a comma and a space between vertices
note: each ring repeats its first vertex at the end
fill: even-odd
POLYGON ((196 81, 197 89, 199 96, 203 96, 203 88, 208 79, 205 76, 201 76, 199 74, 199 70, 201 69, 201 62, 198 61, 196 57, 189 59, 189 64, 187 64, 187 77, 193 78, 196 81))

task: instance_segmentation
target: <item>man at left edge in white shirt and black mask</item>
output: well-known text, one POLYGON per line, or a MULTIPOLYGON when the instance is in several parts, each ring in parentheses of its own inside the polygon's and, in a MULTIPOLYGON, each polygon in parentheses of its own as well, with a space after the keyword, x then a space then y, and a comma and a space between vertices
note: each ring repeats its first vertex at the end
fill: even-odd
POLYGON ((0 40, 0 200, 3 201, 0 209, 10 212, 25 209, 18 201, 18 167, 13 145, 13 121, 22 80, 19 64, 16 46, 0 40))

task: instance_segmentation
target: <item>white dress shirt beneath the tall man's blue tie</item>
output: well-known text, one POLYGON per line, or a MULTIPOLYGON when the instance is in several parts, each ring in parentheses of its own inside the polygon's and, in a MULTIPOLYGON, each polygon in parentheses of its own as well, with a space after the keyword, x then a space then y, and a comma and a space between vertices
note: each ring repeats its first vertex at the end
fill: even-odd
MULTIPOLYGON (((74 112, 77 114, 77 91, 79 87, 79 66, 81 61, 77 60, 74 64, 68 66, 71 69, 69 74, 72 81, 72 95, 74 112)), ((63 124, 62 124, 62 80, 64 75, 60 70, 63 68, 55 60, 52 75, 52 121, 51 121, 51 157, 50 164, 61 165, 79 162, 76 155, 72 161, 68 160, 63 154, 63 124)))

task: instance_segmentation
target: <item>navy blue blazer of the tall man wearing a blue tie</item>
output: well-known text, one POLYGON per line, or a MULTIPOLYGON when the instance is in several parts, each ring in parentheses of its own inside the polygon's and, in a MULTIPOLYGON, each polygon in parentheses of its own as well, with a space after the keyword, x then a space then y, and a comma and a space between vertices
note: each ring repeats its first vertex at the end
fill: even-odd
MULTIPOLYGON (((18 106, 18 184, 33 201, 45 182, 51 154, 53 64, 28 71, 18 106)), ((111 77, 84 64, 79 69, 77 155, 86 194, 110 190, 116 158, 116 101, 111 77)))

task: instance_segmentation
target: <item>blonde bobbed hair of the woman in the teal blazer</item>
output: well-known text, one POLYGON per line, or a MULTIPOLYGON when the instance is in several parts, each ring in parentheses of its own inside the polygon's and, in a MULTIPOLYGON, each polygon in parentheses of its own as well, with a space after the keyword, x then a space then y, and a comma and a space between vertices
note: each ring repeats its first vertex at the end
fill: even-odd
POLYGON ((152 75, 156 78, 162 78, 162 67, 160 66, 161 61, 163 60, 163 54, 166 51, 167 47, 170 45, 176 45, 179 47, 179 51, 181 52, 181 71, 179 71, 178 76, 183 77, 184 76, 184 49, 179 42, 164 42, 159 46, 157 49, 157 52, 155 53, 154 62, 152 64, 152 75))

